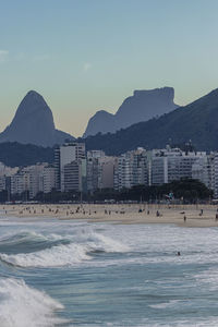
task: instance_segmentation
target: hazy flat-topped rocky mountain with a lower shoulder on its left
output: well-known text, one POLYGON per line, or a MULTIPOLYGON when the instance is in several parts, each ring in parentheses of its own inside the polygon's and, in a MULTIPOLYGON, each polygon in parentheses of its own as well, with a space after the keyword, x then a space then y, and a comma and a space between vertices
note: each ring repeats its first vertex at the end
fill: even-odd
POLYGON ((83 137, 97 133, 114 133, 134 123, 147 121, 154 117, 174 110, 174 89, 162 87, 148 90, 134 90, 133 96, 126 98, 116 114, 105 110, 97 111, 88 121, 83 137))

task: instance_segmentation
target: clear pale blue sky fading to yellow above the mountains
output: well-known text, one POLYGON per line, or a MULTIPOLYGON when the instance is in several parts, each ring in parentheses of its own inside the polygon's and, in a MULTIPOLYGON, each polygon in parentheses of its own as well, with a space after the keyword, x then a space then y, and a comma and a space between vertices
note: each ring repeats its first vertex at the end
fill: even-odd
POLYGON ((0 0, 0 131, 25 94, 81 136, 134 89, 186 105, 218 87, 217 0, 0 0))

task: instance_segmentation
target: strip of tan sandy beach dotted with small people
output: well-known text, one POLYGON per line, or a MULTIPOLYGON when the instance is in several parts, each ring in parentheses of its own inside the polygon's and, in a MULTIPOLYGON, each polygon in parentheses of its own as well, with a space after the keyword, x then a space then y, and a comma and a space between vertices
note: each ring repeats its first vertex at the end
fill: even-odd
POLYGON ((3 217, 56 217, 111 223, 173 223, 181 227, 218 226, 217 206, 147 204, 1 205, 3 217))

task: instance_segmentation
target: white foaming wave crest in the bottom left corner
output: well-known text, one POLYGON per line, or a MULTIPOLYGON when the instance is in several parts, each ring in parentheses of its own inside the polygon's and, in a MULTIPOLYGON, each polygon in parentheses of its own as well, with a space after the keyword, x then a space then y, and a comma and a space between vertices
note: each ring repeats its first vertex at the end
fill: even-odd
POLYGON ((62 304, 45 292, 28 287, 24 280, 0 280, 1 327, 50 327, 64 324, 56 312, 62 304))

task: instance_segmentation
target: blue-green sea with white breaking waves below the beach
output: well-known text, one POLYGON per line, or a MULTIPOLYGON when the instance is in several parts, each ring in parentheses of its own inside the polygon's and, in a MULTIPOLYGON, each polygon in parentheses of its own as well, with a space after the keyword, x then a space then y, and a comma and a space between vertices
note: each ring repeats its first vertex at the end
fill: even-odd
POLYGON ((218 228, 2 217, 0 326, 218 326, 218 228))

